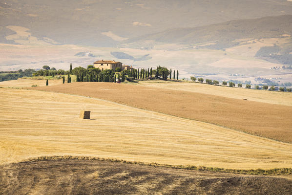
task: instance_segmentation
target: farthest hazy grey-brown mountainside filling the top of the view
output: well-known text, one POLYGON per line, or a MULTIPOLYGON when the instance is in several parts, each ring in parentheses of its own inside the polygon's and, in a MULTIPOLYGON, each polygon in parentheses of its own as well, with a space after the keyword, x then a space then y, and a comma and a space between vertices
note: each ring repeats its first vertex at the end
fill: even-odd
MULTIPOLYGON (((56 43, 115 46, 127 38, 169 28, 292 14, 287 0, 3 0, 0 42, 21 26, 56 43)), ((170 31, 175 32, 175 31, 170 31)), ((179 31, 175 36, 180 36, 179 31)), ((55 44, 56 44, 55 43, 55 44)))

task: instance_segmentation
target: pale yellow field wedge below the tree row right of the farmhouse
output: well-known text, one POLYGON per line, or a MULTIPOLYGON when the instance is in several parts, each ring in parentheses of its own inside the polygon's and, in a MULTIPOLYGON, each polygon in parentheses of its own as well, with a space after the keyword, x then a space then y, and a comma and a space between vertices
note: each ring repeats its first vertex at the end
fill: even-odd
POLYGON ((221 97, 248 99, 255 102, 292 106, 292 93, 268 90, 253 90, 238 87, 222 87, 194 82, 142 82, 146 87, 158 87, 163 89, 175 89, 221 97))

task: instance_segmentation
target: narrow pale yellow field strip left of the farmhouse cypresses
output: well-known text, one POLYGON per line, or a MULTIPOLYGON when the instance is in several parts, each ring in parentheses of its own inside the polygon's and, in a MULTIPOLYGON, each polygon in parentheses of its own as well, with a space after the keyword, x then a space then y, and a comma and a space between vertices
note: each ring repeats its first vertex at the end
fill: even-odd
MULTIPOLYGON (((18 79, 18 80, 11 80, 11 81, 2 81, 0 82, 0 87, 32 87, 32 86, 45 86, 46 80, 37 80, 37 79, 18 79)), ((63 80, 48 80, 49 86, 59 85, 62 84, 63 80)))

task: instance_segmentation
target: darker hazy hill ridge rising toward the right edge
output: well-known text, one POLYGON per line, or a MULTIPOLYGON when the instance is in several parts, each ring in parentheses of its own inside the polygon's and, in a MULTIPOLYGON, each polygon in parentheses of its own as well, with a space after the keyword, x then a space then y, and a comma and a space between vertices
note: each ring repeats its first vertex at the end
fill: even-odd
POLYGON ((215 43, 205 46, 210 49, 223 49, 237 45, 237 39, 261 39, 292 35, 292 15, 263 17, 250 20, 235 20, 193 28, 174 28, 159 33, 128 39, 124 43, 180 43, 195 45, 215 43))

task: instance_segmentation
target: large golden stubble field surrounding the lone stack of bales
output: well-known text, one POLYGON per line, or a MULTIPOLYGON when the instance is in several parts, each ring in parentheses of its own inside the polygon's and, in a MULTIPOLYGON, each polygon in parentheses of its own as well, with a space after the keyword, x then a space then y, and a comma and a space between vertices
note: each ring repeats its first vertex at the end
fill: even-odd
POLYGON ((231 169, 292 167, 289 143, 94 98, 9 88, 0 93, 1 164, 85 155, 231 169), (79 118, 81 109, 91 111, 91 120, 79 118))

